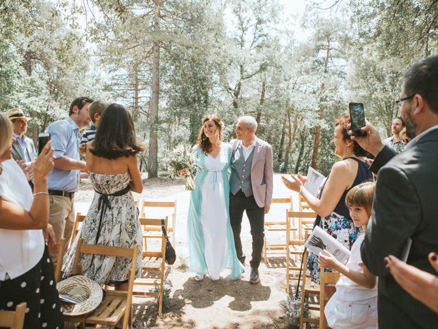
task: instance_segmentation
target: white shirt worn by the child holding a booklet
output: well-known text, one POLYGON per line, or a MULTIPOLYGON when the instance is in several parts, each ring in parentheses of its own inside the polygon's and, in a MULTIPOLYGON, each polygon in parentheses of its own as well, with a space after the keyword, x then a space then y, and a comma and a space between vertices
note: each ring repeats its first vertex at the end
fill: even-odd
MULTIPOLYGON (((362 267, 360 266, 363 264, 361 258, 361 244, 363 239, 365 239, 365 234, 359 235, 355 243, 353 243, 350 251, 350 258, 346 263, 346 267, 360 273, 363 273, 362 267)), ((376 297, 377 280, 374 288, 368 289, 352 282, 352 280, 341 274, 336 283, 336 293, 338 299, 344 301, 366 300, 368 298, 376 297)))

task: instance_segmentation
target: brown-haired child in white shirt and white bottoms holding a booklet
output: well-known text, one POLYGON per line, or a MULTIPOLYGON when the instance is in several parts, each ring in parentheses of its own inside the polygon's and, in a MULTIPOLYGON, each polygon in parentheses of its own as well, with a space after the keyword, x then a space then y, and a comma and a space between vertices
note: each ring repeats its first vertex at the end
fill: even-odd
MULTIPOLYGON (((365 182, 353 187, 346 195, 346 205, 355 226, 366 230, 370 220, 374 182, 365 182)), ((377 285, 374 276, 363 265, 361 234, 350 251, 346 265, 324 250, 320 253, 320 265, 340 273, 336 283, 336 293, 327 302, 324 314, 331 328, 374 329, 377 325, 377 285)))

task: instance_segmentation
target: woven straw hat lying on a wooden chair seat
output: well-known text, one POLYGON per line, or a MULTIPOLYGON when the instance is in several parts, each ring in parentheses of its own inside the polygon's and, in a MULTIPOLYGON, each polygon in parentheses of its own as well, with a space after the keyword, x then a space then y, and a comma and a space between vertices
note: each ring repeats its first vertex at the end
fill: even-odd
POLYGON ((64 315, 76 316, 91 313, 103 300, 102 287, 86 276, 72 276, 57 282, 57 291, 79 301, 79 304, 61 302, 64 315))

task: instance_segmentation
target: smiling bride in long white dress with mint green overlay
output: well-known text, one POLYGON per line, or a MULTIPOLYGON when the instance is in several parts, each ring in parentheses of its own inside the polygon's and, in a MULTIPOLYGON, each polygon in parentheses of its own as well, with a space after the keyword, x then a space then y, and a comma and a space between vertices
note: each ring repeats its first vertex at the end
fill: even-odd
POLYGON ((244 271, 237 259, 229 219, 229 178, 231 146, 222 143, 222 121, 208 116, 192 149, 198 171, 188 212, 190 270, 195 280, 210 276, 219 280, 224 269, 231 270, 231 280, 244 271))

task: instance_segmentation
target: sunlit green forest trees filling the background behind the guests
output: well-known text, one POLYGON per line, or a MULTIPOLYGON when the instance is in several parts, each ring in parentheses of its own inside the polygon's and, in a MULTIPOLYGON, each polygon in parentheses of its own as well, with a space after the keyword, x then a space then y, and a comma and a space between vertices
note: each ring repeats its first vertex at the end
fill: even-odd
MULTIPOLYGON (((322 10, 325 2, 309 3, 301 18, 308 38, 298 41, 279 1, 0 1, 0 110, 23 108, 35 137, 66 117, 75 97, 118 101, 144 144, 156 129, 160 170, 177 145, 196 143, 206 114, 222 118, 224 141, 249 114, 273 146, 276 171, 306 173, 320 131, 317 164, 326 175, 337 160, 334 122, 349 101, 363 102, 366 116, 390 133, 402 74, 437 52, 438 6, 349 0, 322 10)), ((146 154, 139 160, 146 169, 146 154)))

